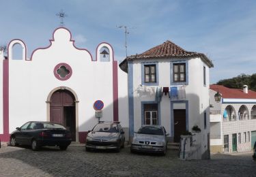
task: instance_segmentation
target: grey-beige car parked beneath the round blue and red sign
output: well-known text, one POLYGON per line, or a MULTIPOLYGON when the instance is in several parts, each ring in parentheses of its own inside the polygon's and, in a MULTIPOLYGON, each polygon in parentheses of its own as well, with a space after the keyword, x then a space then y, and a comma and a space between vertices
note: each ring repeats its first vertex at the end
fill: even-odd
POLYGON ((119 122, 100 122, 88 134, 85 149, 114 149, 119 152, 124 148, 124 130, 119 122))

